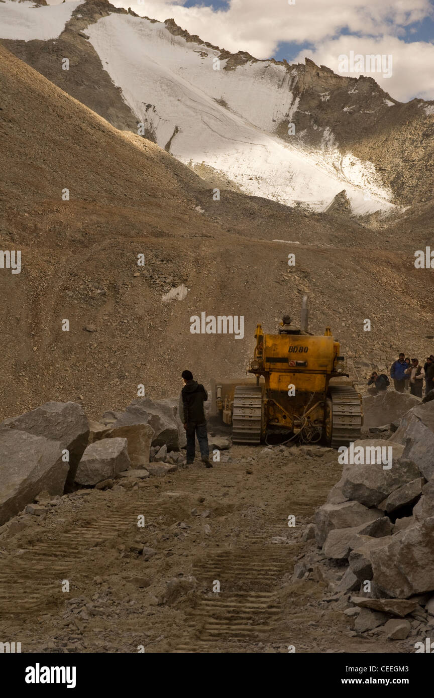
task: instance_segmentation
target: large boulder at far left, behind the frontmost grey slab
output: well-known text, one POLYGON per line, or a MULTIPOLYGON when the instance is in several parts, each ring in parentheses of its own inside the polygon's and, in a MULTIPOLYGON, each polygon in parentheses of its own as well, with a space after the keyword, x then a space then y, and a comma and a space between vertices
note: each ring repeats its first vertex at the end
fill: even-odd
POLYGON ((70 491, 89 438, 89 422, 81 405, 75 402, 46 402, 24 415, 5 419, 1 426, 27 431, 34 436, 44 436, 59 442, 62 449, 67 449, 69 473, 65 491, 70 491))

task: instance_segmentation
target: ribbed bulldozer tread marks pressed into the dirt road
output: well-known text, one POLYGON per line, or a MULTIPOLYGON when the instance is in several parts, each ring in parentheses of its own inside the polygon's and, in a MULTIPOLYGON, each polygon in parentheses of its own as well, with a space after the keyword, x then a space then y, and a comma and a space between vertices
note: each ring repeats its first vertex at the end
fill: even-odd
MULTIPOLYGON (((200 473, 184 470, 176 475, 181 481, 179 487, 188 493, 201 493, 204 487, 217 493, 224 493, 227 488, 234 492, 244 489, 243 472, 235 464, 200 473)), ((166 526, 177 521, 175 512, 167 519, 164 510, 169 499, 164 488, 170 492, 174 484, 162 484, 163 490, 154 486, 143 489, 136 493, 135 501, 124 499, 93 520, 94 505, 85 497, 80 502, 80 517, 89 517, 89 523, 75 527, 68 522, 68 528, 64 526, 63 530, 50 528, 31 546, 3 552, 0 572, 3 625, 13 623, 14 618, 17 623, 24 623, 24 619, 25 623, 34 623, 41 614, 61 614, 70 597, 61 592, 63 579, 70 579, 73 584, 79 574, 78 593, 85 593, 83 579, 88 580, 94 591, 91 580, 101 573, 98 564, 93 563, 95 551, 107 543, 113 549, 117 539, 123 540, 128 531, 137 530, 137 512, 145 512, 147 523, 158 525, 162 515, 166 526)), ((170 651, 237 653, 260 642, 279 646, 287 642, 281 628, 283 609, 279 589, 280 580, 292 571, 292 561, 287 547, 271 542, 271 537, 285 533, 287 520, 284 515, 276 517, 264 510, 254 514, 253 519, 244 519, 241 514, 241 519, 237 516, 234 521, 237 522, 239 537, 237 534, 232 540, 226 539, 224 549, 213 544, 211 538, 205 549, 197 548, 188 572, 197 580, 195 601, 187 611, 185 624, 177 630, 170 651), (220 593, 212 591, 215 580, 220 582, 220 593)), ((101 554, 101 550, 98 552, 101 554)))

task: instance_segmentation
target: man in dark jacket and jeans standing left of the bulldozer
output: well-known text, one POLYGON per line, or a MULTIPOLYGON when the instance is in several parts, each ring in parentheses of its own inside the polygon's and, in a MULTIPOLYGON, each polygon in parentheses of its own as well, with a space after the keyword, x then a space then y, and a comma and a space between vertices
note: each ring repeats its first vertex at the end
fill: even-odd
POLYGON ((193 380, 191 371, 183 371, 181 374, 184 387, 179 396, 179 417, 184 424, 187 437, 187 464, 195 459, 196 436, 199 442, 202 463, 207 468, 212 468, 209 462, 209 445, 207 420, 205 419, 204 401, 208 399, 208 393, 201 383, 193 380))

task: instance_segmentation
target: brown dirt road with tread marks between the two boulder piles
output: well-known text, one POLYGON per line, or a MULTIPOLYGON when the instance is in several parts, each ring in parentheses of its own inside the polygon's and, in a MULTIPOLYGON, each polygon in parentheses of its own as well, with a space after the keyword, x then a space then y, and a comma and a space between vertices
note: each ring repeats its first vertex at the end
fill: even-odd
POLYGON ((292 581, 336 459, 227 453, 17 517, 0 540, 1 635, 23 652, 405 651, 357 636, 315 570, 292 581))

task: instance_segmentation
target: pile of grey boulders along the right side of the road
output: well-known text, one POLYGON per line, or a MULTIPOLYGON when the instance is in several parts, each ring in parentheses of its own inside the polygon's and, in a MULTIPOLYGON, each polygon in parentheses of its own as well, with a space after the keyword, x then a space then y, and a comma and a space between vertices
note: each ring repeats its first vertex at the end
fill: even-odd
POLYGON ((310 551, 294 579, 327 583, 354 634, 417 641, 434 631, 434 403, 418 401, 388 440, 359 440, 354 453, 359 446, 391 447, 392 461, 343 464, 306 529, 310 551))

